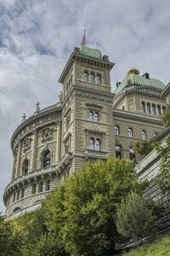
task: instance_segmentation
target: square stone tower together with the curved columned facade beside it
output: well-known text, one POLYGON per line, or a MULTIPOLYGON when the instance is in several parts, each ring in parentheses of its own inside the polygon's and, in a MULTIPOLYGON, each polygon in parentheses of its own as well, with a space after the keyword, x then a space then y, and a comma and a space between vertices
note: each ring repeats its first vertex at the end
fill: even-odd
POLYGON ((60 75, 59 102, 37 110, 14 131, 11 182, 5 214, 13 218, 41 205, 48 192, 88 160, 115 150, 110 71, 114 63, 98 49, 75 48, 60 75))

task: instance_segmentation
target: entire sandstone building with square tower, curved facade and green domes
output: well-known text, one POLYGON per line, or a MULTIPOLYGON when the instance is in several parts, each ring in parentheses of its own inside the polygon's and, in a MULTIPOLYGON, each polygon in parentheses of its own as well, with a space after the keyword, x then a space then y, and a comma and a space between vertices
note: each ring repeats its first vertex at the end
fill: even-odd
POLYGON ((75 48, 59 78, 59 102, 42 110, 37 103, 31 117, 23 116, 11 139, 14 164, 3 195, 8 217, 34 210, 88 161, 109 154, 142 160, 133 143, 162 131, 170 87, 132 67, 111 93, 112 67, 98 49, 75 48))

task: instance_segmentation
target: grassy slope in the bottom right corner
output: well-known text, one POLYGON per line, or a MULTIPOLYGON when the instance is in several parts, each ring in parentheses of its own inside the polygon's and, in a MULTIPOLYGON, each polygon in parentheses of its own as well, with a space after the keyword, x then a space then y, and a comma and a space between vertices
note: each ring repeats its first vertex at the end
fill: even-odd
POLYGON ((170 256, 170 234, 157 236, 156 240, 139 247, 139 253, 136 249, 124 252, 123 256, 170 256))

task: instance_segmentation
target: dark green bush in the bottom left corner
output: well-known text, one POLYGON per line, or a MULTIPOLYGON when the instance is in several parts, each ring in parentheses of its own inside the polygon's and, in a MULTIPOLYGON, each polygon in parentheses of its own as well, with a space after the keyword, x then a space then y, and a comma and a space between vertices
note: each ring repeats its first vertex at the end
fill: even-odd
POLYGON ((12 222, 5 221, 0 215, 0 255, 21 256, 21 242, 20 232, 14 229, 12 222))

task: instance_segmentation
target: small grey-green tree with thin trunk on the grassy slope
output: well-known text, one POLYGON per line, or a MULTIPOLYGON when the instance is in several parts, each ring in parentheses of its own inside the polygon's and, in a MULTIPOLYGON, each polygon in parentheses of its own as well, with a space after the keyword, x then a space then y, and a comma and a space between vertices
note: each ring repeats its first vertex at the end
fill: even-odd
POLYGON ((149 204, 140 195, 132 192, 117 207, 116 226, 118 232, 127 239, 136 238, 137 250, 139 237, 147 235, 155 228, 155 216, 149 204))

